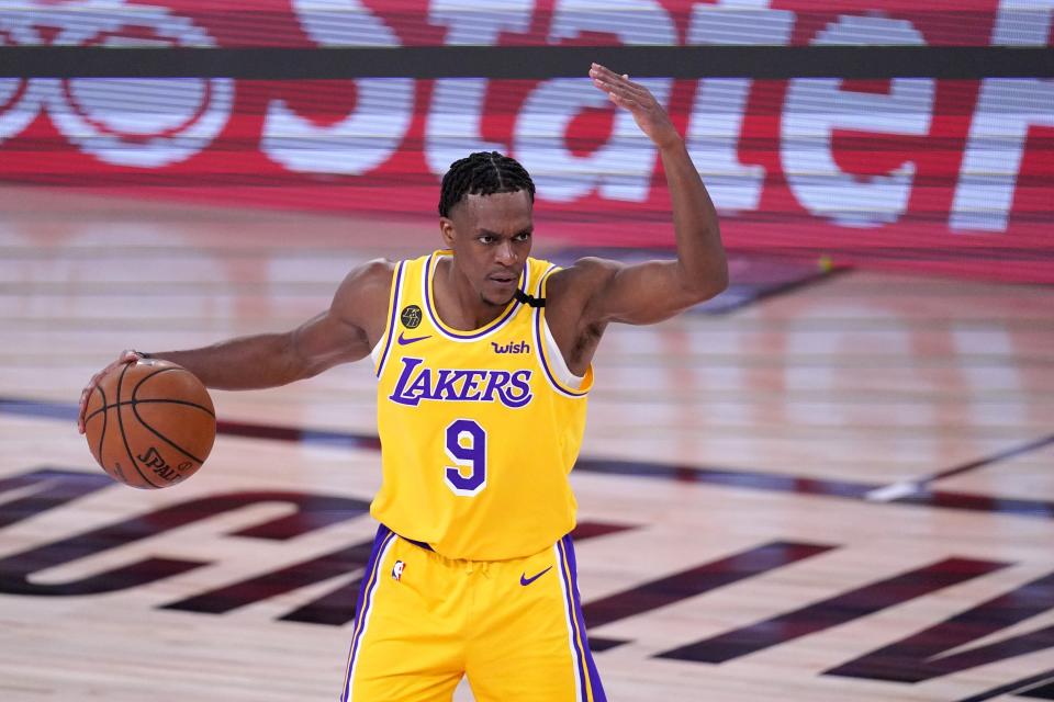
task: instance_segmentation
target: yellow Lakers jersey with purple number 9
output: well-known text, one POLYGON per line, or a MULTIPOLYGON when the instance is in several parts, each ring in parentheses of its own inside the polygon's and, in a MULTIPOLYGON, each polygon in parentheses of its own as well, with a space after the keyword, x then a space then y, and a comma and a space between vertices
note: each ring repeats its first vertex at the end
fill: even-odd
MULTIPOLYGON (((570 373, 545 306, 514 299, 472 331, 444 324, 433 278, 446 256, 395 269, 373 349, 383 482, 370 512, 448 558, 527 556, 574 528, 568 474, 593 370, 570 373)), ((519 290, 545 299, 554 270, 528 259, 519 290)))

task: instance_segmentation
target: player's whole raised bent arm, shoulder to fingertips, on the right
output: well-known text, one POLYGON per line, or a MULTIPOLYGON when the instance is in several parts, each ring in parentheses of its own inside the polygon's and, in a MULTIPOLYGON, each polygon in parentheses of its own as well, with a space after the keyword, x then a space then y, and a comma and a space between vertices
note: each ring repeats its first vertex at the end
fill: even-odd
POLYGON ((654 95, 627 76, 597 64, 593 64, 590 77, 612 102, 629 110, 659 149, 670 188, 677 258, 636 265, 583 261, 588 269, 583 279, 592 283, 584 310, 587 324, 661 321, 728 286, 717 212, 684 139, 654 95))

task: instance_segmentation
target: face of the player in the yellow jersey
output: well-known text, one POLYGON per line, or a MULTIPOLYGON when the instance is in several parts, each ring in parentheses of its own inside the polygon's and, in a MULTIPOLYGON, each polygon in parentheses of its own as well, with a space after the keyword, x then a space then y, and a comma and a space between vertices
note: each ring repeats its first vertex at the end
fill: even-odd
POLYGON ((513 298, 530 253, 534 219, 526 191, 468 195, 439 220, 458 271, 487 305, 513 298))

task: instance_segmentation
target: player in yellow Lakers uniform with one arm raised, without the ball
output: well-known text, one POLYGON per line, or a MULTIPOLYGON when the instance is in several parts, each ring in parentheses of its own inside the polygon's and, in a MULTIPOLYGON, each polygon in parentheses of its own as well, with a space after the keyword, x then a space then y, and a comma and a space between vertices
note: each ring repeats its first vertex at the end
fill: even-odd
POLYGON ((287 333, 153 354, 224 389, 372 359, 381 525, 341 700, 450 700, 462 676, 480 701, 605 699, 568 536, 591 360, 609 322, 676 315, 724 290, 727 267, 666 112, 627 76, 596 64, 590 76, 661 154, 676 260, 559 269, 529 258, 530 177, 512 158, 472 154, 442 179, 445 250, 352 270, 328 310, 287 333))

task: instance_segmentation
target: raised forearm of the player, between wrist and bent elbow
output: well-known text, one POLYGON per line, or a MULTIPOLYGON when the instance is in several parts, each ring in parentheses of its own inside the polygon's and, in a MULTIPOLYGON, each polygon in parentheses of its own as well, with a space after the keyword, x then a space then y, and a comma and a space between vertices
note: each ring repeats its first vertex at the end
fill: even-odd
POLYGON ((713 297, 728 286, 728 263, 717 211, 684 141, 671 140, 659 152, 670 188, 677 263, 684 286, 713 297))

